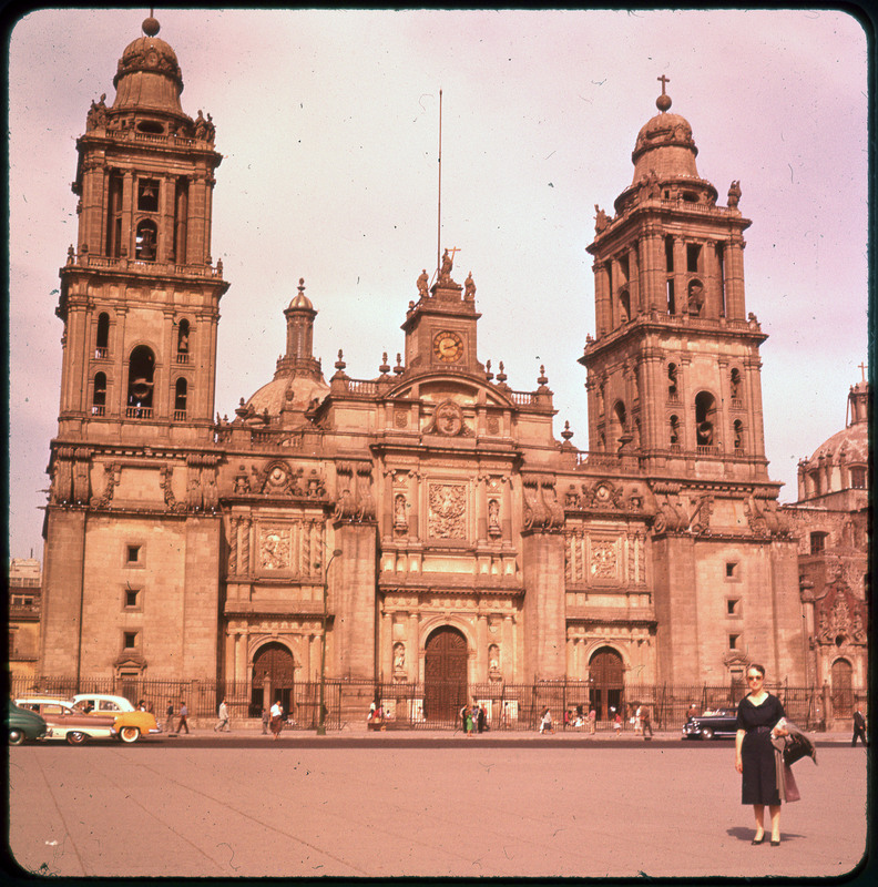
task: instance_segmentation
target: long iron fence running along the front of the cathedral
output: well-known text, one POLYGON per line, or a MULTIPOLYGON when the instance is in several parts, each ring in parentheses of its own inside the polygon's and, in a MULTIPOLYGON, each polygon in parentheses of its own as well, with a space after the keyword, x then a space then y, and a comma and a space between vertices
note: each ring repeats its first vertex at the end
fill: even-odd
MULTIPOLYGON (((251 682, 217 680, 154 680, 122 677, 33 677, 10 675, 13 699, 33 694, 70 699, 76 693, 106 693, 124 696, 133 704, 143 700, 160 721, 167 706, 178 713, 185 702, 190 718, 216 718, 225 700, 233 721, 261 720, 263 690, 251 682)), ((784 705, 787 717, 803 730, 823 730, 827 721, 849 718, 854 708, 866 702, 865 689, 850 690, 844 700, 833 699, 827 687, 767 684, 784 705)), ((596 711, 595 731, 613 730, 619 714, 622 731, 633 730, 637 706, 647 706, 652 726, 678 731, 691 714, 735 708, 746 693, 737 685, 621 684, 595 687, 588 681, 542 681, 532 684, 487 683, 397 683, 327 679, 325 683, 325 725, 327 730, 364 727, 372 703, 380 705, 385 718, 379 726, 408 730, 462 730, 460 711, 473 702, 484 708, 484 726, 498 731, 530 731, 539 727, 542 712, 549 708, 557 731, 590 730, 588 714, 596 711), (564 713, 569 713, 569 723, 564 713)), ((274 687, 272 702, 284 707, 288 728, 314 730, 319 723, 320 683, 298 682, 274 687)), ((847 726, 847 725, 846 725, 847 726)))

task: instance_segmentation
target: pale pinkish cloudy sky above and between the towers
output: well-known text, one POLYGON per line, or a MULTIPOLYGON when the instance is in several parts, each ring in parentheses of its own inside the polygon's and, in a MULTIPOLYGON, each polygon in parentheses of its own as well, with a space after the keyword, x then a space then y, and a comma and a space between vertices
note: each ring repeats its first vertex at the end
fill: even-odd
MULTIPOLYGON (((328 378, 402 350, 400 325, 438 241, 477 284, 478 354, 515 390, 545 366, 555 436, 588 448, 585 369, 595 204, 631 183, 657 78, 692 124, 697 167, 753 221, 747 310, 769 338, 769 476, 845 425, 867 360, 867 39, 837 11, 309 11, 156 9, 183 109, 211 113, 216 410, 269 381, 299 277, 328 378), (438 228, 442 90, 441 235, 438 228)), ((41 10, 9 23, 9 552, 42 557, 57 431, 58 271, 76 239, 75 140, 115 96, 145 10, 41 10)), ((560 439, 560 438, 559 438, 560 439)))

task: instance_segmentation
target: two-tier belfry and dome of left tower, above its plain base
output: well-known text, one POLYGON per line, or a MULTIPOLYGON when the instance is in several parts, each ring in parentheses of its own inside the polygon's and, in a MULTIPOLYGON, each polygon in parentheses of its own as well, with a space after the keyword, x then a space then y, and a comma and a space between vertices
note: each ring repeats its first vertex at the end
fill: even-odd
POLYGON ((60 437, 211 437, 220 298, 211 259, 214 149, 194 120, 159 22, 125 49, 112 106, 92 102, 76 142, 79 235, 61 269, 60 437))

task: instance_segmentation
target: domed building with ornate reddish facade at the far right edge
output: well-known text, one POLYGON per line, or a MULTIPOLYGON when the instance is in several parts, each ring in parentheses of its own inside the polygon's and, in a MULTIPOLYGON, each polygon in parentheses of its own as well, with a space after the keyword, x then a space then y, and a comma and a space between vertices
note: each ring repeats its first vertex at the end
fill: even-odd
POLYGON ((865 703, 868 677, 869 398, 865 379, 851 387, 846 427, 799 462, 798 501, 785 509, 799 540, 808 683, 836 721, 865 703))

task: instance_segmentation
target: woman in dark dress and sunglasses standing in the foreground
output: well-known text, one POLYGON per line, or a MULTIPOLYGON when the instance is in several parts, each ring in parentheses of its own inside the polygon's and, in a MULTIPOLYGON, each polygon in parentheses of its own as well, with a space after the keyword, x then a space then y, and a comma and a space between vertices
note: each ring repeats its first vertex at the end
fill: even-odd
POLYGON ((747 669, 749 694, 738 704, 737 734, 735 736, 735 769, 743 774, 741 803, 753 804, 756 835, 753 844, 765 840, 765 806, 772 816, 772 846, 780 844, 780 794, 772 736, 784 736, 784 706, 763 686, 765 669, 747 669))

